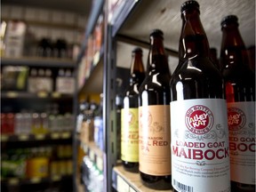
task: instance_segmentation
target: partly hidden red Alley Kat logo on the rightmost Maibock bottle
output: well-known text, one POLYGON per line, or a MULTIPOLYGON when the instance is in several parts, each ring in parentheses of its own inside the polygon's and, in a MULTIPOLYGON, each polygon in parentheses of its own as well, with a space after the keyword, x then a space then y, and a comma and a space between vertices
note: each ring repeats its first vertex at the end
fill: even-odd
POLYGON ((246 116, 240 108, 228 108, 228 129, 231 131, 240 130, 244 127, 246 116))

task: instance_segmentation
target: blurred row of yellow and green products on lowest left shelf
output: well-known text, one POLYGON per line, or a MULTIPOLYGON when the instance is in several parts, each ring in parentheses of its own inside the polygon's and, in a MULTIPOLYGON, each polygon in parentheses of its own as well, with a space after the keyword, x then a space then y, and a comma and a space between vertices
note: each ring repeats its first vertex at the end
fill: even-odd
POLYGON ((32 179, 71 175, 71 157, 70 145, 7 149, 1 156, 1 177, 32 179))

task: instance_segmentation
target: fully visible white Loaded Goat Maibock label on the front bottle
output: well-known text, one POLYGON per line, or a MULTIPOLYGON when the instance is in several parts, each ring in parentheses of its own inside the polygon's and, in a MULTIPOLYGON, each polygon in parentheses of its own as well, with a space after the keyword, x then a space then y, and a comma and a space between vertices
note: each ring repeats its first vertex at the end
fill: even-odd
POLYGON ((226 100, 177 100, 170 107, 173 188, 230 191, 226 100))

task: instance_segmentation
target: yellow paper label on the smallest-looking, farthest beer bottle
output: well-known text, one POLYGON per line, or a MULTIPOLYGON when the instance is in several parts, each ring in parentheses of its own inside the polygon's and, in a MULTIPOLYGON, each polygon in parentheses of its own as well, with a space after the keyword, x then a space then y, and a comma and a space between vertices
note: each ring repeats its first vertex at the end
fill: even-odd
POLYGON ((139 162, 139 110, 121 109, 121 159, 139 162))

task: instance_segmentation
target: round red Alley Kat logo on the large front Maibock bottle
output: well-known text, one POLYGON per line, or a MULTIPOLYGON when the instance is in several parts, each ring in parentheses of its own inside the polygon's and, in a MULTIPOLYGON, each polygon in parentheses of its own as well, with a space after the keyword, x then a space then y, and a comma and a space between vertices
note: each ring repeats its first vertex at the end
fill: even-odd
POLYGON ((203 105, 196 105, 188 109, 185 121, 190 132, 205 134, 212 129, 214 119, 209 108, 203 105))

